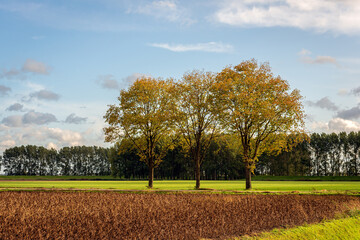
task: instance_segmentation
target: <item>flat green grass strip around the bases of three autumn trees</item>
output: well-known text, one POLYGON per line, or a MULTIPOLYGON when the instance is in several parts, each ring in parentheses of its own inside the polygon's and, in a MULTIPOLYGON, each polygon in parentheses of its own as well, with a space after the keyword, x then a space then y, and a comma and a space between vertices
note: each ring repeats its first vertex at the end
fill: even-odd
MULTIPOLYGON (((356 181, 252 181, 252 191, 299 192, 360 192, 356 181)), ((0 181, 0 188, 66 188, 66 189, 115 189, 146 190, 147 181, 0 181)), ((193 190, 195 181, 171 180, 154 182, 155 190, 193 190)), ((245 181, 201 181, 202 189, 218 191, 243 191, 245 181)))

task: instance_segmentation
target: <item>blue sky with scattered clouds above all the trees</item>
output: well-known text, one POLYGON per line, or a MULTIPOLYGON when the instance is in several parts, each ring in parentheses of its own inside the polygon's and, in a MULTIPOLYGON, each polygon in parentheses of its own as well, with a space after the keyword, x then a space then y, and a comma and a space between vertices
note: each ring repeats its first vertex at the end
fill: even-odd
POLYGON ((0 0, 0 153, 97 145, 141 76, 268 62, 308 132, 360 131, 360 0, 0 0))

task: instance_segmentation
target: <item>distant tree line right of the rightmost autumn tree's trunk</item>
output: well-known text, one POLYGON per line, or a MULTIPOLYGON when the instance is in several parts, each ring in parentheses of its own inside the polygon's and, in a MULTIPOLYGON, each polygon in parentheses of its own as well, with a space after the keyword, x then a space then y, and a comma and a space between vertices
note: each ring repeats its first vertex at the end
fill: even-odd
POLYGON ((277 156, 262 155, 257 174, 359 176, 360 131, 313 133, 310 142, 303 142, 292 151, 277 156))

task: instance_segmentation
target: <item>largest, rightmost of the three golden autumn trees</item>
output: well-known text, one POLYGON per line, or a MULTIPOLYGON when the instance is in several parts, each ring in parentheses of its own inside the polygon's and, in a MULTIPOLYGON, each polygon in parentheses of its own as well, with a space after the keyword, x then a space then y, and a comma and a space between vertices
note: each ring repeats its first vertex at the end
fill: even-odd
POLYGON ((218 108, 225 128, 238 134, 245 163, 246 189, 251 189, 251 173, 263 152, 291 148, 286 138, 304 138, 304 110, 298 90, 290 91, 287 81, 275 77, 268 64, 256 60, 223 69, 217 76, 218 108))

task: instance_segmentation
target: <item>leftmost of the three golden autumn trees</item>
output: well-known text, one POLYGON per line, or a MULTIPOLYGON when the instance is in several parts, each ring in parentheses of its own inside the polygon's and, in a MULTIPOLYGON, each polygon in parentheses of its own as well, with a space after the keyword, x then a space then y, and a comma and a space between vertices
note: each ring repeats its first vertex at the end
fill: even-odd
POLYGON ((149 168, 149 188, 153 187, 154 168, 171 146, 174 100, 172 81, 140 78, 127 90, 121 90, 117 105, 110 105, 104 116, 105 141, 129 139, 140 160, 149 168))

